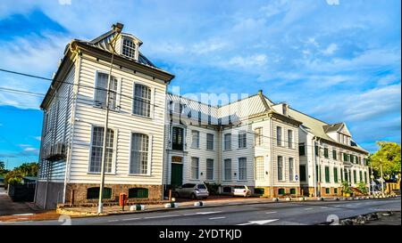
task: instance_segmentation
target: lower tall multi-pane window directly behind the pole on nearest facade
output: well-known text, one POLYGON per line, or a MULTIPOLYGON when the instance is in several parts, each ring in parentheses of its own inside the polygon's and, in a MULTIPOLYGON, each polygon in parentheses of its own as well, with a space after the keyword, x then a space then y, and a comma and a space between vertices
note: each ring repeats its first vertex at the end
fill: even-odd
MULTIPOLYGON (((91 160, 89 164, 89 172, 93 173, 101 172, 104 133, 105 133, 104 127, 94 126, 92 131, 91 160)), ((108 128, 106 134, 106 162, 105 162, 106 173, 112 173, 113 143, 114 143, 114 131, 108 128)))

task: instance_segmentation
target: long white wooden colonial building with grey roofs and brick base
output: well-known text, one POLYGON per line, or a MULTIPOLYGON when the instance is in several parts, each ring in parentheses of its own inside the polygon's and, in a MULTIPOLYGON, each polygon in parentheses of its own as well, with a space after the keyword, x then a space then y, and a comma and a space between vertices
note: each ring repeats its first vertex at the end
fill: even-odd
POLYGON ((339 194, 342 180, 367 181, 367 152, 344 124, 308 117, 262 91, 220 106, 167 93, 174 76, 119 28, 65 48, 41 104, 38 205, 96 204, 109 80, 106 201, 120 193, 161 200, 188 182, 220 184, 221 191, 247 185, 277 197, 339 194))

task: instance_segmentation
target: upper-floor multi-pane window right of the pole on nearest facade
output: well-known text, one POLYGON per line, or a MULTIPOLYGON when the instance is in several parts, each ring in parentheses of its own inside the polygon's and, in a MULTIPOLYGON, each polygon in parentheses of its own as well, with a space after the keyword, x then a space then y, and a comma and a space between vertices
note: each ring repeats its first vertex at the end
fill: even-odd
POLYGON ((151 117, 151 89, 146 85, 134 85, 132 113, 142 117, 151 117))

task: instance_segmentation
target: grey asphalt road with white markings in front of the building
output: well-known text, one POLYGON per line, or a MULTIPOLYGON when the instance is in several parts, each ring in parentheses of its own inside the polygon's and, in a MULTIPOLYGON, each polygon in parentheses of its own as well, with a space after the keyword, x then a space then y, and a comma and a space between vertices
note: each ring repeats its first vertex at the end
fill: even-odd
MULTIPOLYGON (((332 218, 348 218, 378 211, 400 211, 400 198, 353 201, 306 201, 262 203, 255 205, 173 209, 128 215, 110 215, 59 221, 13 224, 110 224, 110 225, 297 225, 327 222, 332 218)), ((0 223, 1 224, 1 223, 0 223)), ((11 224, 11 223, 7 223, 11 224)))

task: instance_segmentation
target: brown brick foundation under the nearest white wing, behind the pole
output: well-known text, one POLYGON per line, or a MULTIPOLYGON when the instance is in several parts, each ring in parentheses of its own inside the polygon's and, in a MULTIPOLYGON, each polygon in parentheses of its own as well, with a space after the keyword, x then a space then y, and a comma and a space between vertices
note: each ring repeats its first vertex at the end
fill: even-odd
MULTIPOLYGON (((91 187, 99 187, 99 184, 92 183, 68 183, 66 188, 65 204, 80 205, 97 203, 98 199, 87 199, 87 190, 91 187)), ((120 193, 129 195, 130 188, 147 188, 148 198, 129 198, 133 201, 160 201, 162 200, 162 185, 136 185, 136 184, 105 184, 105 188, 112 189, 112 197, 105 198, 104 202, 118 202, 120 193)))

